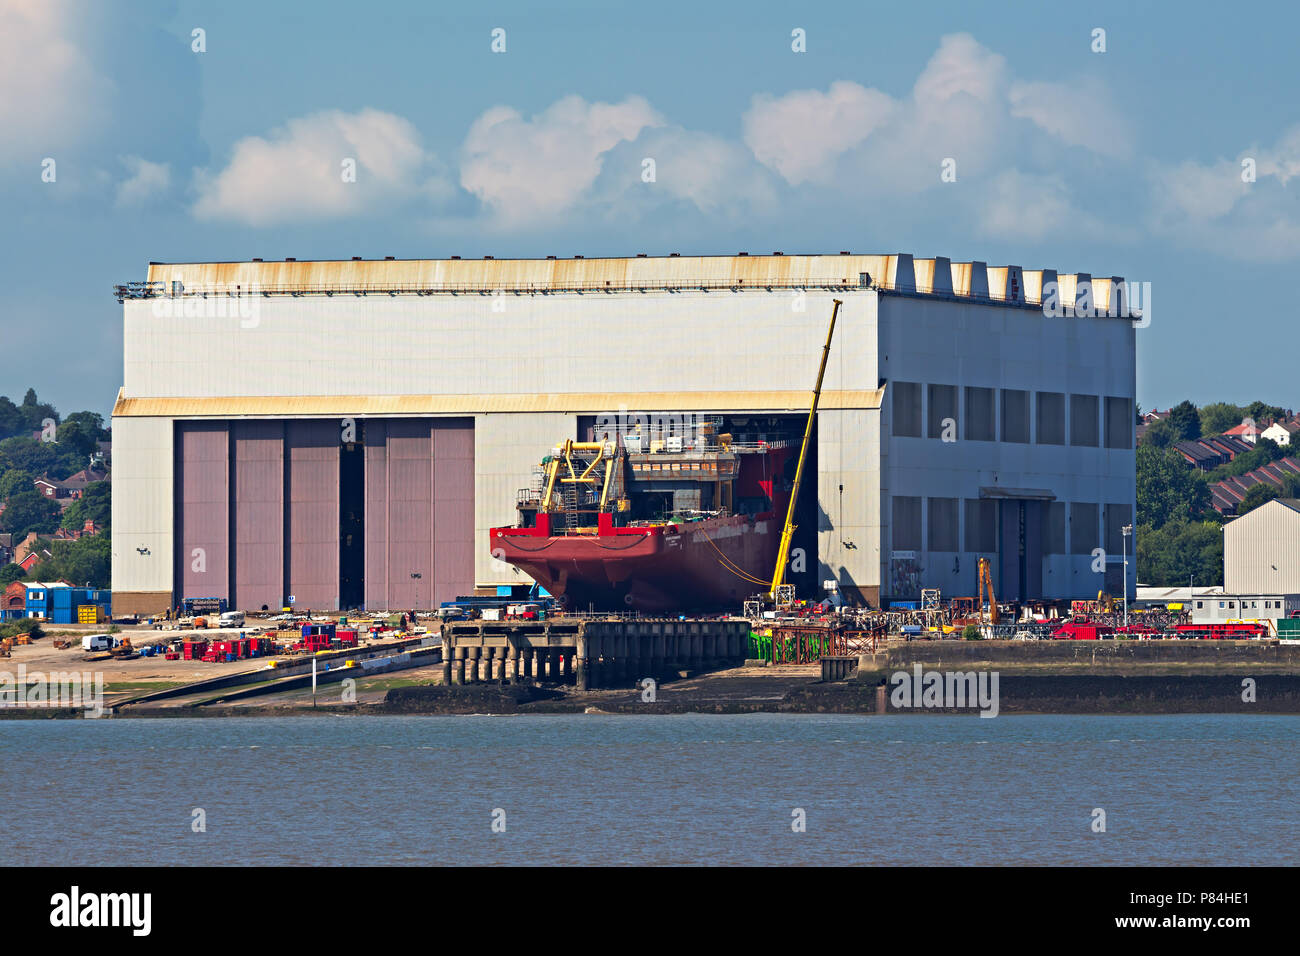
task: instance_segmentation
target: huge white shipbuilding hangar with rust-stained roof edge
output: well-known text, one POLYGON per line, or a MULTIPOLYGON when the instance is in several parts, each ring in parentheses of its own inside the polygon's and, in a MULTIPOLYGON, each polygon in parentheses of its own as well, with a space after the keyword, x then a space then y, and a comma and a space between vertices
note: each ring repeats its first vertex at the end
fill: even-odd
POLYGON ((620 416, 801 431, 833 299, 801 593, 974 594, 982 557, 1009 600, 1118 593, 1124 289, 848 252, 151 263, 117 287, 114 614, 526 584, 489 538, 545 457, 620 416))

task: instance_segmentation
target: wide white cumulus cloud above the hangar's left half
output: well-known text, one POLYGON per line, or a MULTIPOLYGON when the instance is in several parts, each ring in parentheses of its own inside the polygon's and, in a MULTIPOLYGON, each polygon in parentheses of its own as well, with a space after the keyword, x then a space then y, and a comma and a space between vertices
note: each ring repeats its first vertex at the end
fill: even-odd
POLYGON ((196 185, 195 216, 255 226, 346 219, 451 193, 415 126, 377 109, 313 113, 240 139, 226 168, 200 170, 196 185))

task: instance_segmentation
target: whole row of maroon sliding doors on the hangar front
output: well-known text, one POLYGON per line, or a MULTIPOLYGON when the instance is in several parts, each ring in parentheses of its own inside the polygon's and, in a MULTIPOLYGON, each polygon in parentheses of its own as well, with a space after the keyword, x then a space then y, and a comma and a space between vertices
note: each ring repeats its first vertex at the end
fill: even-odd
MULTIPOLYGON (((359 424, 367 607, 472 593, 473 420, 359 424)), ((177 423, 177 597, 257 610, 292 596, 296 607, 338 610, 341 437, 334 419, 177 423)))

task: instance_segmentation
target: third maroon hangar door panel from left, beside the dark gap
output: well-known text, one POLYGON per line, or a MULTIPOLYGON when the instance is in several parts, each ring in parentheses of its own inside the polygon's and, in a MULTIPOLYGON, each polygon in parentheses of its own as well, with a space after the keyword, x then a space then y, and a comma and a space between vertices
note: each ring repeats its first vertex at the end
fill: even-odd
POLYGON ((338 609, 339 423, 285 423, 285 555, 295 607, 338 609))

